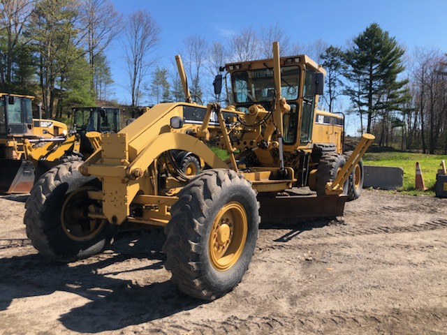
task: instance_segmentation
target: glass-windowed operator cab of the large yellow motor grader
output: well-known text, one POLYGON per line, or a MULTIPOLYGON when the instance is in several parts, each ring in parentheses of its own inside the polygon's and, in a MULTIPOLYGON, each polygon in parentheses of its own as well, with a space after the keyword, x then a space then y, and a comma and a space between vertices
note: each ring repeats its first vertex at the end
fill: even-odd
MULTIPOLYGON (((307 148, 312 145, 312 129, 318 96, 323 94, 325 70, 305 55, 281 57, 281 96, 291 111, 284 114, 284 144, 307 148)), ((273 60, 226 64, 230 73, 232 103, 248 112, 251 105, 274 108, 273 60)))

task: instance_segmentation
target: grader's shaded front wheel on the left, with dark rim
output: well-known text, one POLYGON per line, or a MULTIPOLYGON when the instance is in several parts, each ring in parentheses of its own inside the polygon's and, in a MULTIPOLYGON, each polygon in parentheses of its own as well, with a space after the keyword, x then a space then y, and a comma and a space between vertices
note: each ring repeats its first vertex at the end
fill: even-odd
POLYGON ((59 262, 73 262, 100 253, 119 227, 104 219, 89 219, 101 211, 101 202, 88 191, 101 190, 96 177, 78 171, 80 161, 57 165, 31 189, 24 215, 27 236, 41 255, 59 262))

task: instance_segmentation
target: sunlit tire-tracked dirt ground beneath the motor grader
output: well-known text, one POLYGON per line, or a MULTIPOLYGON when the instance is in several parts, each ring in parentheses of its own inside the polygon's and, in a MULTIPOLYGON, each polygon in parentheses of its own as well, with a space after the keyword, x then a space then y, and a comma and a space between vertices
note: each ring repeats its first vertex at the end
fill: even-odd
POLYGON ((365 190, 344 222, 263 224, 242 283, 210 303, 170 283, 161 230, 43 259, 25 200, 0 198, 1 334, 447 334, 447 199, 365 190))

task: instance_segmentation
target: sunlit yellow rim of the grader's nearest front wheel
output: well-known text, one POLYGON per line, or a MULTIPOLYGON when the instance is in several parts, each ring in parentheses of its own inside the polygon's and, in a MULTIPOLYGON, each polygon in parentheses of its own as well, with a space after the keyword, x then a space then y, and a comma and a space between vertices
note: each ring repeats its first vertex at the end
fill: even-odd
POLYGON ((214 269, 226 271, 239 260, 247 240, 247 213, 239 202, 221 208, 211 228, 210 259, 214 269))

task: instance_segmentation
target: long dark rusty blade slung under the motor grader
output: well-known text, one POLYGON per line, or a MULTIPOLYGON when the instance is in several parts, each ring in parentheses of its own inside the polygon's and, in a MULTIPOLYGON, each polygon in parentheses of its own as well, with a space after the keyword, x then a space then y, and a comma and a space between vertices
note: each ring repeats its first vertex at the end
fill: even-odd
POLYGON ((324 218, 343 216, 347 195, 277 195, 276 197, 258 196, 261 202, 262 221, 300 221, 302 218, 324 218))

